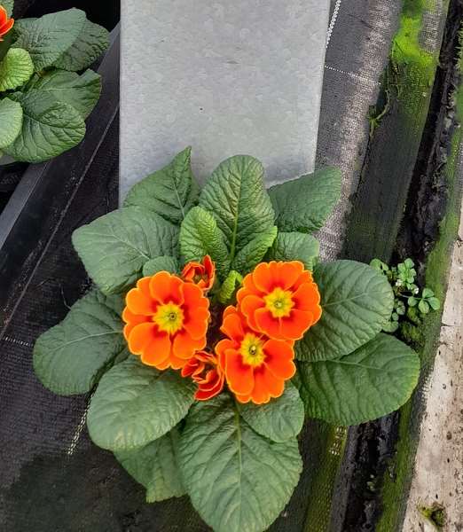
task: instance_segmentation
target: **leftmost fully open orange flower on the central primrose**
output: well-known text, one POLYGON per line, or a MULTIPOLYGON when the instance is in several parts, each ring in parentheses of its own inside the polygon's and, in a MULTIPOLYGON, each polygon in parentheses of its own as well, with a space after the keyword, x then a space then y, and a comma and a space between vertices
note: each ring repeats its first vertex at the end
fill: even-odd
POLYGON ((178 370, 206 346, 209 301, 199 286, 160 271, 140 279, 126 304, 124 336, 144 364, 178 370))

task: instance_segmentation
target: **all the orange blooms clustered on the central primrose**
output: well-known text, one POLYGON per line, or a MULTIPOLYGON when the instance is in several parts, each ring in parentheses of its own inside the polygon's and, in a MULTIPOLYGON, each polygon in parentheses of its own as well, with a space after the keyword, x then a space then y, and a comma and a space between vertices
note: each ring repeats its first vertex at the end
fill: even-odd
POLYGON ((294 341, 321 316, 318 286, 302 262, 262 262, 243 280, 238 304, 224 310, 223 340, 207 344, 208 291, 215 265, 189 262, 182 277, 161 271, 129 291, 122 318, 129 350, 160 370, 181 369, 204 401, 225 382, 240 403, 268 403, 294 376, 294 341))

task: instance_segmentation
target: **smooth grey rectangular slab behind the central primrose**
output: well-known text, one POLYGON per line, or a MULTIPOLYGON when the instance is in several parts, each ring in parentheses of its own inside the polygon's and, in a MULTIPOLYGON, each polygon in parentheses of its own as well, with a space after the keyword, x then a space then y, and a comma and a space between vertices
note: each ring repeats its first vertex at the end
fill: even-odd
POLYGON ((329 0, 122 0, 121 197, 192 145, 270 181, 314 166, 329 0))

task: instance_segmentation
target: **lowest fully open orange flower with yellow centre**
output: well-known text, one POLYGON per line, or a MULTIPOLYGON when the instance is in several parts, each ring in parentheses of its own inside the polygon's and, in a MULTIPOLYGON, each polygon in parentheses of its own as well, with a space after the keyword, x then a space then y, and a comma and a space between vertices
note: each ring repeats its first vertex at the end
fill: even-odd
POLYGON ((240 403, 268 403, 295 373, 292 341, 272 340, 255 332, 235 307, 227 307, 220 329, 228 339, 216 345, 228 387, 240 403))

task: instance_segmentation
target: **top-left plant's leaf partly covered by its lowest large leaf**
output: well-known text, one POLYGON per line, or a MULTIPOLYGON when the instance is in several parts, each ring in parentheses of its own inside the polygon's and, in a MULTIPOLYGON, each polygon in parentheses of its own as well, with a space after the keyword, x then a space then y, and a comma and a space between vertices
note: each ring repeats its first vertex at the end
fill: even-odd
POLYGON ((101 76, 92 70, 81 75, 66 70, 51 70, 44 75, 36 75, 27 90, 50 94, 59 102, 73 106, 86 119, 101 94, 101 76))

